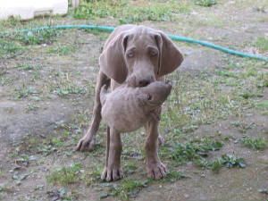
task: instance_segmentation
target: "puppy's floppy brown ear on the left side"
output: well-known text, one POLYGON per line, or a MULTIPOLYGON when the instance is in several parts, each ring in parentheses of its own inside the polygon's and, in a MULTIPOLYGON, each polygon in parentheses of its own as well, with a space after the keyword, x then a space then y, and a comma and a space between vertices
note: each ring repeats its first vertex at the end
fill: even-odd
POLYGON ((114 37, 105 47, 99 57, 100 69, 106 76, 122 83, 128 75, 127 66, 124 60, 124 52, 127 44, 127 35, 122 32, 114 37))

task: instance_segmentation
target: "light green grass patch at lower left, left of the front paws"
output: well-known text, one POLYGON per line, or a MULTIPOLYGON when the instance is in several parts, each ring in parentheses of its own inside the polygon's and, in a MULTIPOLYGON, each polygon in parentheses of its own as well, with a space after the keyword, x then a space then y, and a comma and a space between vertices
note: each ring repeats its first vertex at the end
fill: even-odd
POLYGON ((80 163, 73 163, 69 167, 63 167, 51 172, 46 176, 48 182, 63 186, 79 181, 80 163))

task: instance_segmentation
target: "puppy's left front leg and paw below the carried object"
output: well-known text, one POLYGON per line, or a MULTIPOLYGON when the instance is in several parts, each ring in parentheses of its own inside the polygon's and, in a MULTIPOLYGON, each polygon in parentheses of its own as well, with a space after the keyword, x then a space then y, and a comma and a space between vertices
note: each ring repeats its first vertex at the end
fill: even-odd
POLYGON ((102 180, 112 181, 122 178, 121 171, 121 135, 113 128, 107 129, 107 147, 105 170, 102 180), (110 141, 110 142, 109 142, 110 141))

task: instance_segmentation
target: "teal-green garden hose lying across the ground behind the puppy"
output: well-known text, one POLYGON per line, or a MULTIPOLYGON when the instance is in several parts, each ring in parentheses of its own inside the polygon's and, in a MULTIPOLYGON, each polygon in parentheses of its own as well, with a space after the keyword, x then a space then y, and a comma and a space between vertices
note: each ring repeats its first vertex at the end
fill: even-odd
MULTIPOLYGON (((106 26, 95 26, 95 25, 57 25, 57 26, 52 26, 52 27, 39 27, 39 28, 33 28, 33 29, 21 29, 18 30, 19 32, 28 32, 30 30, 35 31, 35 30, 42 30, 42 29, 97 29, 97 30, 103 30, 103 31, 108 31, 108 32, 112 32, 115 28, 114 27, 106 27, 106 26)), ((228 49, 226 47, 223 46, 216 46, 212 43, 207 43, 205 41, 201 41, 201 40, 196 40, 196 39, 192 39, 192 38, 184 38, 184 37, 178 37, 178 36, 174 36, 174 35, 170 35, 167 34, 167 36, 169 38, 172 38, 172 40, 177 40, 177 41, 181 41, 181 42, 188 42, 188 43, 194 43, 194 44, 198 44, 201 46, 207 46, 210 48, 214 48, 217 50, 220 50, 224 53, 227 54, 234 54, 234 55, 239 55, 242 57, 248 57, 251 59, 257 59, 257 60, 264 60, 266 62, 268 62, 268 57, 265 56, 260 56, 260 55, 255 55, 255 54, 247 54, 247 53, 241 53, 232 49, 228 49)))

